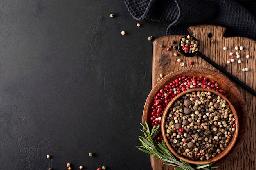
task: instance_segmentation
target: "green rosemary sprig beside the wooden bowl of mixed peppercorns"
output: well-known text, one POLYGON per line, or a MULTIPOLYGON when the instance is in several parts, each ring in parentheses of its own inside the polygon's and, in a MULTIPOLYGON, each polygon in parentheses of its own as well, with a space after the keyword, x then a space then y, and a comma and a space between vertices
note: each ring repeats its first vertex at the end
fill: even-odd
POLYGON ((205 165, 196 165, 196 167, 192 167, 189 163, 182 161, 181 159, 177 160, 176 157, 167 148, 164 140, 162 140, 162 143, 157 143, 154 140, 154 137, 159 133, 160 125, 153 127, 151 131, 147 122, 145 122, 145 125, 141 124, 141 126, 144 129, 141 129, 141 131, 145 134, 146 137, 139 136, 139 141, 141 142, 142 145, 136 147, 144 153, 157 156, 154 158, 160 159, 161 161, 164 162, 163 164, 176 166, 174 168, 175 170, 212 170, 218 168, 218 166, 212 166, 213 163, 205 165))

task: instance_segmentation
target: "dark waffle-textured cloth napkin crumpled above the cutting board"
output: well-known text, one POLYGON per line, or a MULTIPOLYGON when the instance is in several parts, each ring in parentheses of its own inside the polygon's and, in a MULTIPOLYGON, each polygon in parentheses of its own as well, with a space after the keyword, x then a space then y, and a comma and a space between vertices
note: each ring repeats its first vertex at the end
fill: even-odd
POLYGON ((212 24, 225 36, 256 40, 256 0, 124 0, 136 20, 169 22, 166 35, 187 34, 189 26, 212 24))

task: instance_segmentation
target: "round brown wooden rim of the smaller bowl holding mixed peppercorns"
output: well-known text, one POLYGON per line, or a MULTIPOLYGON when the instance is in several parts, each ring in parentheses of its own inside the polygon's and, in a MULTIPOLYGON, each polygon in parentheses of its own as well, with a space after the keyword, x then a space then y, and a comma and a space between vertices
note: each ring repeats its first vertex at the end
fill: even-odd
POLYGON ((178 94, 177 96, 175 96, 173 98, 173 100, 171 100, 168 105, 166 106, 166 109, 164 110, 163 116, 162 116, 162 123, 161 123, 161 133, 162 133, 162 137, 164 139, 164 141, 166 142, 166 145, 168 147, 168 149, 171 151, 171 153, 173 153, 173 155, 175 155, 177 158, 182 159, 183 161, 186 161, 188 163, 191 164, 198 164, 198 165, 203 165, 203 164, 208 164, 208 163, 212 163, 212 162, 216 162, 220 159, 222 159, 223 157, 225 157, 229 151, 233 148, 234 144, 236 143, 236 139, 238 138, 238 130, 239 129, 239 123, 238 123, 238 116, 236 113, 236 109, 234 108, 234 106, 232 105, 232 103, 222 94, 211 90, 211 89, 206 89, 206 88, 194 88, 194 89, 188 89, 180 94, 178 94), (187 93, 191 93, 191 92, 198 92, 198 91, 206 91, 206 92, 211 92, 212 94, 216 94, 218 96, 220 96, 222 99, 227 101, 227 104, 229 105, 229 108, 232 111, 232 114, 234 115, 235 118, 235 124, 236 124, 236 130, 232 136, 231 142, 229 142, 227 148, 225 148, 224 150, 222 150, 220 153, 218 153, 215 157, 212 157, 209 160, 190 160, 190 159, 186 159, 185 157, 181 156, 180 154, 178 154, 173 148, 172 146, 169 144, 168 139, 166 137, 166 128, 165 128, 165 121, 166 121, 166 115, 169 114, 169 109, 171 108, 171 106, 173 105, 173 103, 175 103, 176 100, 178 100, 179 98, 181 98, 183 95, 187 94, 187 93))

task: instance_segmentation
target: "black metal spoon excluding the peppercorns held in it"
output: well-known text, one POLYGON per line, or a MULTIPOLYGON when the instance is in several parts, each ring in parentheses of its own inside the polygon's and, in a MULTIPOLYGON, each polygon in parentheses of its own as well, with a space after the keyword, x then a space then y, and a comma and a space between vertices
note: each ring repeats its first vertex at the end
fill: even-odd
MULTIPOLYGON (((184 36, 182 38, 188 39, 187 36, 184 36)), ((222 72, 223 74, 225 74, 227 77, 229 77, 231 80, 235 81, 237 84, 239 84, 240 86, 242 86, 244 89, 246 89, 248 92, 252 93, 254 96, 256 96, 256 92, 251 89, 249 86, 245 85, 245 83, 243 83, 242 81, 240 81, 238 78, 236 78, 235 76, 233 76, 232 74, 230 74, 229 72, 227 72, 225 69, 223 69, 222 67, 220 67, 220 65, 214 63, 211 59, 209 59, 208 57, 206 57, 204 54, 202 54, 199 49, 200 49, 200 44, 199 41, 193 37, 190 36, 189 39, 194 39, 195 41, 198 42, 198 46, 197 46, 197 51, 194 52, 185 52, 185 50, 183 49, 183 45, 182 45, 182 39, 180 40, 179 44, 178 44, 178 49, 180 51, 180 53, 186 57, 193 57, 196 54, 199 55, 199 57, 201 57, 202 59, 204 59, 205 61, 207 61, 209 64, 211 64, 213 67, 215 67, 216 69, 218 69, 220 72, 222 72)))

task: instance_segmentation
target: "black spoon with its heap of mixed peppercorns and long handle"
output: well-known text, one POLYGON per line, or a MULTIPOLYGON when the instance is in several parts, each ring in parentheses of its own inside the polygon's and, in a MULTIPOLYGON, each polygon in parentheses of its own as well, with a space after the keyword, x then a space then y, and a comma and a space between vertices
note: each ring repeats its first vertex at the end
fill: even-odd
POLYGON ((250 92, 254 96, 256 96, 256 92, 253 89, 251 89, 249 86, 245 85, 245 83, 240 81, 238 78, 236 78, 235 76, 233 76, 232 74, 227 72, 224 68, 220 67, 220 65, 216 64, 211 59, 206 57, 204 54, 202 54, 199 51, 199 49, 200 49, 199 41, 195 37, 190 36, 190 35, 182 37, 182 39, 180 40, 180 42, 178 44, 178 50, 180 51, 180 53, 182 55, 184 55, 186 57, 193 57, 195 55, 198 55, 199 57, 201 57, 202 59, 207 61, 209 64, 211 64, 213 67, 218 69, 220 72, 225 74, 227 77, 229 77, 231 80, 235 81, 240 86, 242 86, 244 89, 246 89, 248 92, 250 92))

